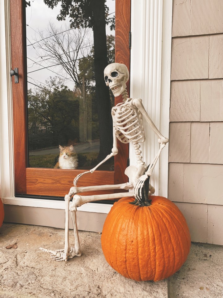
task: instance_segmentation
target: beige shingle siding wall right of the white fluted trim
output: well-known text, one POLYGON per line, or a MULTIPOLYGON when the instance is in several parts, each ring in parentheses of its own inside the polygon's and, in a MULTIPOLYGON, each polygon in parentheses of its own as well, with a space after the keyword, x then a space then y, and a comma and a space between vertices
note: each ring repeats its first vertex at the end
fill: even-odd
POLYGON ((223 1, 173 0, 168 198, 223 244, 223 1))

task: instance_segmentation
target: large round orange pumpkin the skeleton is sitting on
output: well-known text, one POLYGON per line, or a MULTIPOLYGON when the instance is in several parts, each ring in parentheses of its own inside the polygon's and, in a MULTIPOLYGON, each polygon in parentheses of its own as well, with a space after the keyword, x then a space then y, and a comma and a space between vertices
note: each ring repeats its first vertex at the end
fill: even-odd
POLYGON ((168 278, 186 261, 190 233, 181 211, 162 196, 150 206, 131 205, 133 197, 116 202, 102 231, 102 250, 113 269, 137 281, 168 278))

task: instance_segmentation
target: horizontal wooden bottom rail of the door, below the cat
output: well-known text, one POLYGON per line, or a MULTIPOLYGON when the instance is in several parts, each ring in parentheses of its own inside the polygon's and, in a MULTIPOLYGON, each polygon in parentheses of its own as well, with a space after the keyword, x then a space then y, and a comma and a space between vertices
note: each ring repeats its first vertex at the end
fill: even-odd
MULTIPOLYGON (((42 196, 62 196, 68 194, 73 186, 74 178, 85 172, 84 170, 64 170, 64 169, 40 169, 27 168, 27 194, 42 196)), ((106 185, 114 184, 114 174, 112 171, 95 171, 94 173, 83 175, 78 181, 78 186, 106 185)), ((113 193, 113 191, 83 192, 83 195, 95 195, 103 193, 113 193)))

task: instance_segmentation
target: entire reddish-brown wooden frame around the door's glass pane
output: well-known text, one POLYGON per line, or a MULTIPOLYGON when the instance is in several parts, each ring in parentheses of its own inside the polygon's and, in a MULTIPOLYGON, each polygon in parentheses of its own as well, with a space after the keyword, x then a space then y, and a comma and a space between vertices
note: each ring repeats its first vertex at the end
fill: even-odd
MULTIPOLYGON (((124 63, 130 68, 130 0, 116 1, 116 51, 115 60, 124 63)), ((26 109, 26 41, 24 0, 10 0, 10 27, 11 27, 11 65, 19 70, 19 84, 12 81, 13 96, 13 132, 14 132, 14 174, 15 194, 64 197, 73 185, 73 179, 84 170, 45 169, 27 167, 27 109, 26 109)), ((129 92, 129 82, 127 84, 129 92)), ((115 104, 122 101, 117 97, 115 104)), ((119 154, 115 156, 115 169, 113 171, 95 171, 84 175, 80 186, 118 184, 128 181, 124 174, 129 157, 129 146, 118 141, 119 154)), ((102 194, 98 191, 94 194, 102 194)), ((109 193, 109 192, 106 192, 109 193)), ((110 192, 112 193, 112 192, 110 192)), ((85 194, 92 194, 86 192, 85 194)))

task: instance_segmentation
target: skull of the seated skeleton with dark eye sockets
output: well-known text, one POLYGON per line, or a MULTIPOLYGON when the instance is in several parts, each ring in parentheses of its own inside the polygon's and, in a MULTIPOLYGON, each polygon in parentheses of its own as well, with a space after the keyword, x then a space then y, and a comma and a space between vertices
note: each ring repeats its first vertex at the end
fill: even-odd
POLYGON ((125 91, 129 71, 125 64, 111 63, 104 70, 104 79, 106 86, 109 86, 116 97, 125 91))

